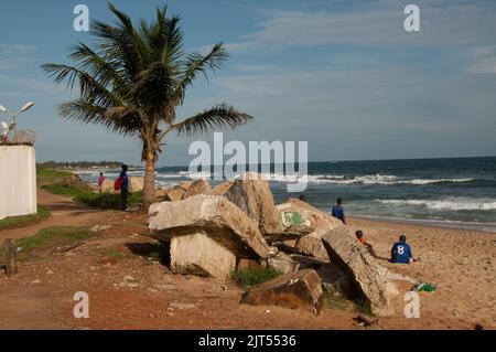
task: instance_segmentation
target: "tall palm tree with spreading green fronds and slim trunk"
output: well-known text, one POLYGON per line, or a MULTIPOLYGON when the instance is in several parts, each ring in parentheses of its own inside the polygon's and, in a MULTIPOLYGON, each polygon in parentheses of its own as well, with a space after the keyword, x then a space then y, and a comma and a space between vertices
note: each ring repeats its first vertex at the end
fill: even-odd
POLYGON ((111 3, 115 25, 91 23, 94 49, 78 43, 69 54, 74 66, 45 64, 42 68, 55 84, 79 87, 79 98, 60 106, 62 117, 84 124, 103 125, 142 142, 145 162, 143 206, 155 202, 155 164, 163 140, 171 132, 192 136, 224 127, 236 128, 252 119, 227 104, 217 104, 192 117, 176 119, 176 108, 184 104, 186 88, 198 76, 208 81, 229 57, 223 43, 207 54, 186 53, 181 18, 166 17, 166 7, 157 9, 157 19, 131 19, 111 3))

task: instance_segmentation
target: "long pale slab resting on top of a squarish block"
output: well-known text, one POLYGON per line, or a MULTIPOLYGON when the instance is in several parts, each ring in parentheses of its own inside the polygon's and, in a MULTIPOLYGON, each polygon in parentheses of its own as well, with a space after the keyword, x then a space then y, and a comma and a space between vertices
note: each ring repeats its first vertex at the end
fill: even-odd
POLYGON ((237 258, 267 258, 271 248, 258 225, 220 195, 194 195, 180 202, 150 206, 151 236, 168 243, 175 236, 204 233, 237 258))

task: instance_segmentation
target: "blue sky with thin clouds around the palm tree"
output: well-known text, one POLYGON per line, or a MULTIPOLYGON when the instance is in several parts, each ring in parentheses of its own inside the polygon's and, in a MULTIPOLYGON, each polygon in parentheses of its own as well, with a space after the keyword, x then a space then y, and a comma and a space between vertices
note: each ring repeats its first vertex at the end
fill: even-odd
MULTIPOLYGON (((36 132, 39 161, 140 163, 133 138, 63 120, 75 98, 40 68, 71 63, 87 32, 73 29, 76 4, 114 22, 103 0, 0 3, 0 104, 35 106, 19 118, 36 132)), ((158 0, 114 0, 133 20, 151 19, 158 0)), ((231 55, 209 82, 190 88, 179 119, 216 103, 255 117, 229 140, 308 141, 310 161, 496 154, 496 1, 493 0, 174 0, 185 47, 224 42, 231 55), (403 9, 420 8, 420 32, 403 9)), ((8 120, 0 115, 0 120, 8 120)), ((192 141, 172 136, 160 166, 188 164, 192 141)))

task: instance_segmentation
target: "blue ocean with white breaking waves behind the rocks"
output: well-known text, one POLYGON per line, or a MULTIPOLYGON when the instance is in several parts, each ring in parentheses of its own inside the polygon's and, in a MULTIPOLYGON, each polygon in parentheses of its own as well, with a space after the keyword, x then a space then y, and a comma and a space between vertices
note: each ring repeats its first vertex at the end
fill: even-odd
MULTIPOLYGON (((97 174, 82 177, 95 182, 97 174)), ((117 178, 117 170, 107 177, 117 178)), ((166 167, 157 180, 171 186, 198 177, 187 167, 166 167)), ((308 180, 308 201, 326 212, 343 198, 348 215, 496 232, 496 157, 311 162, 308 180)), ((276 202, 300 195, 287 192, 288 182, 294 179, 272 175, 276 202)))

